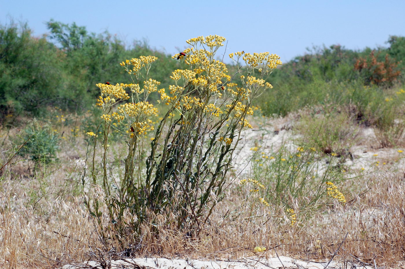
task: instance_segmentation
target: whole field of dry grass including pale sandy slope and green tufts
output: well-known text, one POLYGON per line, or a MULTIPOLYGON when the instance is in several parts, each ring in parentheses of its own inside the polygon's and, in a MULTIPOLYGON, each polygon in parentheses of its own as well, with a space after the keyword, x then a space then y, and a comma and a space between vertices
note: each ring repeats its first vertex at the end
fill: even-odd
MULTIPOLYGON (((76 117, 64 117, 70 116, 76 117)), ((243 136, 226 195, 201 225, 198 237, 160 216, 161 223, 145 223, 139 241, 121 249, 115 248, 119 244, 113 237, 103 239, 106 231, 99 230, 83 203, 80 175, 89 165, 82 161, 85 130, 60 124, 55 128, 64 136, 52 162, 34 168, 36 163, 28 157, 2 170, 3 266, 58 267, 109 254, 118 258, 126 256, 125 251, 140 257, 241 257, 255 255, 257 246, 267 249, 258 255, 272 256, 277 248, 279 255, 325 260, 346 233, 339 261, 394 266, 403 258, 405 243, 404 148, 382 148, 377 129, 354 122, 336 126, 323 114, 316 117, 323 123, 313 126, 318 129, 314 134, 305 131, 308 117, 303 111, 280 119, 252 118, 254 129, 243 136), (340 129, 335 130, 337 139, 328 128, 340 129), (339 147, 325 154, 325 143, 339 147), (346 203, 328 195, 326 182, 337 186, 346 203)), ((3 147, 11 146, 18 133, 18 128, 3 129, 3 147)), ((119 141, 110 147, 111 169, 119 174, 126 147, 119 141)), ((98 193, 98 199, 107 211, 103 195, 98 193)))

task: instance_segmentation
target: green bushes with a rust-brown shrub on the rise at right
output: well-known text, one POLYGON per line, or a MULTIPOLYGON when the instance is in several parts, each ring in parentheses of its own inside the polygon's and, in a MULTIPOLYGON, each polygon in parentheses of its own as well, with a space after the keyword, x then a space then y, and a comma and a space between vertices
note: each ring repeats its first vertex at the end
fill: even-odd
POLYGON ((260 98, 264 114, 285 116, 326 104, 359 109, 370 98, 384 100, 389 88, 403 87, 405 82, 405 37, 390 36, 387 43, 388 48, 359 51, 340 45, 313 47, 284 62, 269 78, 273 93, 260 98))

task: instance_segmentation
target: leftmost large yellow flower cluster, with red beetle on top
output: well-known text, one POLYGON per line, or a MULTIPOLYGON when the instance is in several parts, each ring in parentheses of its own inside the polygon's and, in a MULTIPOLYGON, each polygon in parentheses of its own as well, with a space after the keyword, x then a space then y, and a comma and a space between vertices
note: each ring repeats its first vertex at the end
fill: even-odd
POLYGON ((126 84, 107 85, 103 83, 96 84, 101 90, 101 96, 97 99, 98 106, 112 106, 119 100, 128 100, 129 95, 126 93, 126 84))

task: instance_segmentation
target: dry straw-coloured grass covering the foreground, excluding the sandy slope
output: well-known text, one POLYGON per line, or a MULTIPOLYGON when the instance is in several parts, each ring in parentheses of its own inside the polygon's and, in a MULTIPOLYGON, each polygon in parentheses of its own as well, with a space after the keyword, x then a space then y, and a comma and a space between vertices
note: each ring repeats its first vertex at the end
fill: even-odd
MULTIPOLYGON (((5 150, 11 148, 9 139, 17 132, 12 129, 3 137, 2 160, 5 150)), ((298 225, 294 226, 290 226, 285 209, 245 200, 236 190, 237 184, 232 183, 224 201, 202 225, 198 240, 167 225, 163 216, 156 216, 157 222, 144 225, 142 237, 128 242, 125 251, 114 249, 110 231, 98 231, 83 205, 81 184, 66 179, 78 179, 75 161, 85 156, 83 138, 63 141, 60 161, 43 168, 36 178, 30 176, 27 162, 4 171, 5 180, 0 183, 0 267, 58 268, 73 261, 127 254, 236 258, 254 255, 256 246, 266 247, 266 256, 273 256, 276 249, 279 255, 328 260, 347 233, 336 260, 359 260, 364 265, 375 261, 378 267, 395 267, 404 259, 405 182, 401 160, 395 163, 395 169, 380 169, 346 180, 339 185, 342 192, 351 191, 345 192, 346 205, 323 207, 312 212, 308 220, 300 219, 297 212, 298 225), (158 233, 154 232, 156 227, 158 233), (107 235, 104 240, 99 236, 102 232, 107 235)), ((361 147, 372 150, 373 143, 364 141, 361 147)))

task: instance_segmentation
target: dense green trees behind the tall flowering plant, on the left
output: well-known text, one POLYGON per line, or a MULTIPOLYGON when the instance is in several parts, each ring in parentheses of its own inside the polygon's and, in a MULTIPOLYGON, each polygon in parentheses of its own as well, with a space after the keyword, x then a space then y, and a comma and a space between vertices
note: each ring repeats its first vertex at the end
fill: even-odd
POLYGON ((27 24, 0 25, 0 113, 39 116, 48 106, 80 112, 100 94, 96 83, 129 83, 125 59, 154 55, 149 72, 167 87, 178 62, 146 42, 130 47, 108 32, 89 33, 75 23, 47 22, 37 38, 27 24))

